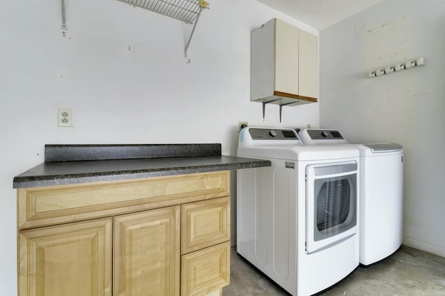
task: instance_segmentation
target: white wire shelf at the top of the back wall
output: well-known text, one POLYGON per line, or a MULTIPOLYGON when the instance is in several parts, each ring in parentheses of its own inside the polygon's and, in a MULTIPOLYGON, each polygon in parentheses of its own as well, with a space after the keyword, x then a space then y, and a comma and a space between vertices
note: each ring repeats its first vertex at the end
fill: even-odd
POLYGON ((208 8, 204 0, 119 0, 132 6, 166 15, 193 24, 200 12, 208 8))

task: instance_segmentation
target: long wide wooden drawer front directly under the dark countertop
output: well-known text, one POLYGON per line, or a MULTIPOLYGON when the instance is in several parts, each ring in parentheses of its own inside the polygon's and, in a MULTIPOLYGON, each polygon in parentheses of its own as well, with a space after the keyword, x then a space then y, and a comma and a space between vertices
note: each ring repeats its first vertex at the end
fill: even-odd
POLYGON ((229 171, 18 189, 18 227, 113 216, 227 195, 229 171))

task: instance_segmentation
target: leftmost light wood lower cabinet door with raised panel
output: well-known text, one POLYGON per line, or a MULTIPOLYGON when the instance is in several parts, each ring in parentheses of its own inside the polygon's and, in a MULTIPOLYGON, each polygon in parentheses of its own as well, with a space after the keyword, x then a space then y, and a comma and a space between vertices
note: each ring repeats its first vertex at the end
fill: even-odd
POLYGON ((19 296, 110 296, 111 218, 19 232, 19 296))

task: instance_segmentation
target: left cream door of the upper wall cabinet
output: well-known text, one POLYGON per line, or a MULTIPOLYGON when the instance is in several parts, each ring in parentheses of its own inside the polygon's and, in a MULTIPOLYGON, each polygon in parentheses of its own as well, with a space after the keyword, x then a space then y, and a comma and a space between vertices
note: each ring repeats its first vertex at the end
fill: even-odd
POLYGON ((277 19, 275 28, 275 90, 298 93, 298 32, 299 29, 277 19))

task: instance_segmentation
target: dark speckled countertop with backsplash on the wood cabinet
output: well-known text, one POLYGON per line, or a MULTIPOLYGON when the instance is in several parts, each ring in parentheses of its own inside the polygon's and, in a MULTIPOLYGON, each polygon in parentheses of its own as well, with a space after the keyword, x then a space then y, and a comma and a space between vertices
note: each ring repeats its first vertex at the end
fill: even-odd
POLYGON ((13 188, 78 184, 270 166, 221 155, 219 143, 46 145, 44 163, 14 177, 13 188))

